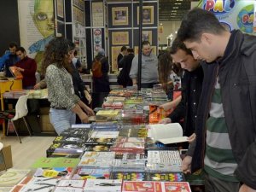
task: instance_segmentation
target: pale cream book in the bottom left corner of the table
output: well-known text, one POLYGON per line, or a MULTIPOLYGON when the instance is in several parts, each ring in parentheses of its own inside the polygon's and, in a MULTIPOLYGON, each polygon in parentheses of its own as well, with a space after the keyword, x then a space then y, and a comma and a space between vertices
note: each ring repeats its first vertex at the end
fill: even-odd
POLYGON ((19 183, 21 179, 26 177, 27 173, 31 170, 22 170, 22 169, 9 169, 7 172, 4 172, 0 176, 0 186, 3 187, 12 187, 15 184, 19 183))

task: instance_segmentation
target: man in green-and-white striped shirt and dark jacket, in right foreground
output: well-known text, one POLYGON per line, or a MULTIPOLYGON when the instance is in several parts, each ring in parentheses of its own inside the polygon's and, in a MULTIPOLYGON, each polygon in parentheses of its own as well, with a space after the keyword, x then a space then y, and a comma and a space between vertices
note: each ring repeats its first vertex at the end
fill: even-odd
POLYGON ((227 31, 203 9, 189 11, 177 37, 206 62, 195 153, 184 172, 204 168, 207 192, 256 191, 256 37, 227 31))

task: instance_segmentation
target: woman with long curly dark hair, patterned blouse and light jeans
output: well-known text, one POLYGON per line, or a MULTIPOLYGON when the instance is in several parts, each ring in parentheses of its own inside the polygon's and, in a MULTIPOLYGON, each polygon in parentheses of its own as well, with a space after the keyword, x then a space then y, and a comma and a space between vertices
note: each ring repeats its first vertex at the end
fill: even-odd
POLYGON ((54 38, 45 48, 42 72, 48 88, 49 119, 58 135, 75 124, 75 114, 82 123, 88 122, 89 108, 74 94, 68 41, 54 38), (84 111, 83 111, 84 110, 84 111))

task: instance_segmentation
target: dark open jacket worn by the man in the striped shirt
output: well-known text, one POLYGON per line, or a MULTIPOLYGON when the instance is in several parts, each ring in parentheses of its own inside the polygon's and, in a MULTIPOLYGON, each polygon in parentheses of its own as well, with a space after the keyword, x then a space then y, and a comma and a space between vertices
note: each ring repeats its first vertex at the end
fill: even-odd
POLYGON ((233 31, 224 57, 203 69, 192 172, 203 167, 206 122, 218 76, 230 143, 238 164, 236 177, 256 189, 256 37, 233 31))

